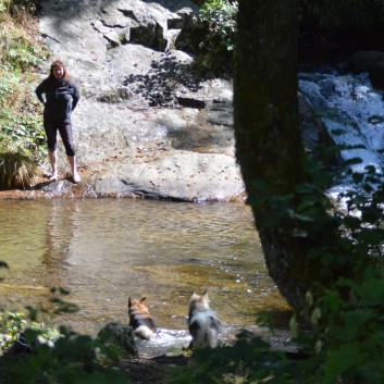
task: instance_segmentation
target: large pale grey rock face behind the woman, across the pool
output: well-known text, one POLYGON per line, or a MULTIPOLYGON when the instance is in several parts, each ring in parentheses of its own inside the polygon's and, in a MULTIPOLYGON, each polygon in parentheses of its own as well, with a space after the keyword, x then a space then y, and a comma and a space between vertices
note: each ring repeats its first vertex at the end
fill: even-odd
POLYGON ((33 191, 5 197, 244 199, 232 79, 201 76, 181 49, 195 2, 41 4, 37 38, 66 63, 82 90, 73 114, 82 183, 69 179, 60 147, 58 182, 38 178, 33 191))

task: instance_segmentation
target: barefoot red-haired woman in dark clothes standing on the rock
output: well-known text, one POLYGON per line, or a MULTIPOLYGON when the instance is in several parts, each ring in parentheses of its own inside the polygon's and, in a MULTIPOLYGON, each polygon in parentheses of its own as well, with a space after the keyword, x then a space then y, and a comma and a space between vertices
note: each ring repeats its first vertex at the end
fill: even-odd
POLYGON ((50 74, 36 88, 38 99, 44 103, 44 128, 48 141, 48 157, 52 168, 50 179, 58 179, 58 131, 65 147, 67 161, 71 165, 74 183, 79 183, 80 176, 76 169, 75 146, 72 133, 72 111, 80 98, 78 86, 71 79, 64 63, 53 61, 50 74))

